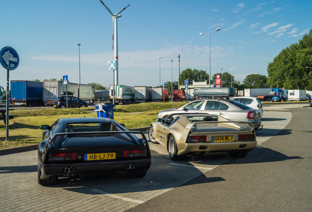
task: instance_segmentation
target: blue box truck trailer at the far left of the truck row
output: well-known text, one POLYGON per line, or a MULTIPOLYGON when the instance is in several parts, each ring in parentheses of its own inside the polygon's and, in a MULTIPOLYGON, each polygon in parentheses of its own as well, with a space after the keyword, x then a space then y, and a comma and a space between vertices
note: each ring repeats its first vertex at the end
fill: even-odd
POLYGON ((43 82, 11 80, 11 103, 13 105, 43 106, 43 82))

